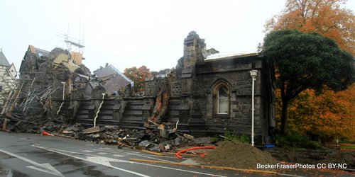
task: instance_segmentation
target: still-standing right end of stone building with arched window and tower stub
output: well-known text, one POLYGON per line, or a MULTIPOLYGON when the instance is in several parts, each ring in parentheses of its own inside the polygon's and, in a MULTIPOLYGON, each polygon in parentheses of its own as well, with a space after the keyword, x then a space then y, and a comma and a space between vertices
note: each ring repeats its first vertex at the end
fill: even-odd
MULTIPOLYGON (((251 135, 251 70, 255 83, 255 134, 261 142, 274 121, 272 69, 258 52, 219 54, 206 50, 204 40, 192 31, 184 40, 184 56, 168 77, 168 111, 163 122, 180 121, 192 134, 232 132, 251 135)), ((148 81, 147 96, 157 96, 148 81)))

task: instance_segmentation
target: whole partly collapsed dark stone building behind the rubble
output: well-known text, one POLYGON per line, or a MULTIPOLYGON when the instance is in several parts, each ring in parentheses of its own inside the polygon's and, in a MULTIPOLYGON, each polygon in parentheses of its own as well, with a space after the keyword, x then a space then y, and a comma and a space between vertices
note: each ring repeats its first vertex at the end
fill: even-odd
POLYGON ((27 103, 37 91, 34 99, 38 101, 23 104, 24 113, 45 109, 48 115, 65 115, 70 122, 87 127, 145 129, 153 124, 171 125, 190 135, 228 131, 250 136, 251 70, 258 71, 254 132, 256 142, 263 142, 269 128, 275 126, 273 73, 268 60, 258 52, 207 50, 195 31, 185 38, 183 57, 167 77, 146 79, 144 96, 133 96, 132 81, 111 65, 92 75, 82 64, 82 55, 30 46, 20 69, 24 95, 19 102, 27 103))

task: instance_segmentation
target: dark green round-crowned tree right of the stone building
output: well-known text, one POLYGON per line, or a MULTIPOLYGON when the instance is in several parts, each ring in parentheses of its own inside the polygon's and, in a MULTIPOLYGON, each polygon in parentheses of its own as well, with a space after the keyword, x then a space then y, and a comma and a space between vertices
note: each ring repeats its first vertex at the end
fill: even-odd
POLYGON ((263 55, 275 67, 276 84, 281 91, 281 131, 287 131, 288 104, 305 89, 334 91, 354 82, 354 58, 339 49, 334 40, 317 33, 276 30, 264 39, 263 55))

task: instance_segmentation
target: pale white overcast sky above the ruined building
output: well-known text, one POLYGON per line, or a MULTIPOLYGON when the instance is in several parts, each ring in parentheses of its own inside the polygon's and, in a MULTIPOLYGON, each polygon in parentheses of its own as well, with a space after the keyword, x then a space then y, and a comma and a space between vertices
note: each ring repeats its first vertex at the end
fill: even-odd
MULTIPOLYGON (((207 49, 256 50, 263 25, 285 0, 234 1, 59 1, 1 0, 0 47, 19 70, 28 45, 66 48, 58 33, 84 38, 84 64, 93 72, 106 63, 121 72, 146 65, 175 67, 183 40, 195 30, 207 49)), ((346 8, 354 11, 355 2, 346 8)))

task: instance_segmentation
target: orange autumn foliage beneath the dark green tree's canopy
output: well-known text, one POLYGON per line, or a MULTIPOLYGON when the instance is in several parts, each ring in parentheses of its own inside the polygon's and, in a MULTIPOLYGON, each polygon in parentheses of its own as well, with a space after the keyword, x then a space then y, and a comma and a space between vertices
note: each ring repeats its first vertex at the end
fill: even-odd
MULTIPOLYGON (((281 104, 280 89, 276 93, 281 104)), ((345 91, 324 91, 317 95, 314 90, 302 91, 289 105, 290 130, 302 135, 317 135, 322 139, 345 138, 354 140, 355 131, 355 84, 345 91)), ((281 107, 276 107, 280 119, 281 107)))

